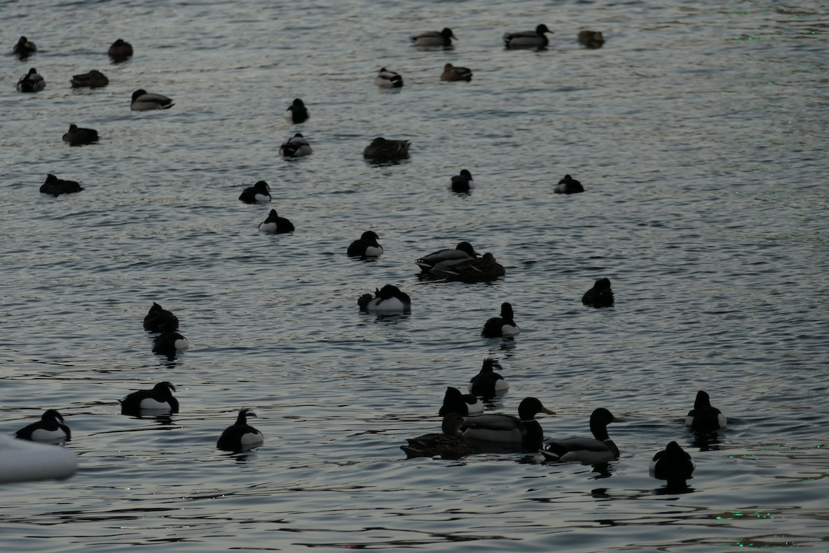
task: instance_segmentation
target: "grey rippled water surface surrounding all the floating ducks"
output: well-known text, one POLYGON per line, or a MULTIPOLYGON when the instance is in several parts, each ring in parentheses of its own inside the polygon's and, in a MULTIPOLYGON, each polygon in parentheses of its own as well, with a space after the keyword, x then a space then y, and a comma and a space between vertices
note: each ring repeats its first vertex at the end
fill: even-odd
POLYGON ((65 482, 3 486, 9 551, 826 550, 825 5, 33 0, 2 17, 4 45, 40 51, 0 58, 0 428, 56 408, 80 456, 65 482), (548 50, 502 49, 539 22, 548 50), (444 26, 452 51, 409 46, 444 26), (575 41, 591 27, 604 48, 575 41), (110 65, 118 37, 136 55, 110 65), (473 81, 441 83, 447 62, 473 81), (30 66, 46 90, 14 92, 30 66), (378 90, 381 66, 405 87, 378 90), (108 87, 70 89, 95 68, 108 87), (137 88, 176 105, 130 112, 137 88), (70 123, 101 141, 62 143, 70 123), (313 155, 280 159, 298 131, 313 155), (364 162, 379 135, 410 160, 364 162), (444 187, 462 167, 468 196, 444 187), (49 172, 85 191, 39 194, 49 172), (552 194, 565 173, 587 192, 552 194), (292 235, 260 235, 270 206, 236 200, 259 179, 292 235), (367 229, 385 255, 347 259, 367 229), (507 276, 418 278, 414 259, 460 240, 507 276), (615 308, 584 308, 604 276, 615 308), (358 312, 383 284, 410 315, 358 312), (153 301, 191 342, 173 361, 142 329, 153 301), (521 335, 482 339, 502 301, 521 335), (511 383, 492 410, 536 395, 564 438, 608 407, 621 458, 405 460, 487 356, 511 383), (162 380, 179 415, 119 415, 162 380), (699 389, 732 421, 714 444, 683 425, 699 389), (264 445, 216 451, 242 406, 264 445), (647 474, 672 439, 698 465, 684 492, 647 474))

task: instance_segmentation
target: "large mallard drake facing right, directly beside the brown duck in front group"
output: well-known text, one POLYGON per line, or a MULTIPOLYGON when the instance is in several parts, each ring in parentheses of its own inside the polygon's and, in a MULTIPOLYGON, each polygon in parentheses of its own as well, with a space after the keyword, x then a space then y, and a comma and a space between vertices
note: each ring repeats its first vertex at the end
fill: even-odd
POLYGON ((517 417, 490 414, 465 419, 469 428, 463 432, 463 437, 471 441, 520 443, 523 448, 538 449, 544 439, 544 430, 536 420, 539 413, 555 415, 537 398, 526 397, 518 405, 517 417))

